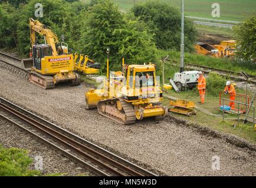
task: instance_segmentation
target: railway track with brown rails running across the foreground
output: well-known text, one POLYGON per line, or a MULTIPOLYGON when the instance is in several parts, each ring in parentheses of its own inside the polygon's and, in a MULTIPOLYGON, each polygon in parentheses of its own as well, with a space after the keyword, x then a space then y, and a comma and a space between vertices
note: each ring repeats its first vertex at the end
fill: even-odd
POLYGON ((98 176, 156 176, 4 98, 0 98, 0 117, 37 137, 41 142, 60 151, 98 176))

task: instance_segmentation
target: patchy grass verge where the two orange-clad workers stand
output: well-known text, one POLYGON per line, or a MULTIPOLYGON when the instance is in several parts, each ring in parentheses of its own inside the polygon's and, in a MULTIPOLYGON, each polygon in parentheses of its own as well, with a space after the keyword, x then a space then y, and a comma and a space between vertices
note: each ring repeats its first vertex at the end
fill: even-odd
MULTIPOLYGON (((237 92, 245 93, 245 91, 241 90, 241 89, 238 89, 237 92)), ((200 100, 199 95, 195 95, 195 93, 193 93, 193 95, 191 95, 191 93, 193 93, 193 92, 176 93, 174 90, 170 90, 170 91, 168 91, 167 95, 174 96, 179 99, 190 100, 192 102, 198 103, 200 100)), ((163 101, 163 104, 166 106, 169 106, 169 99, 165 98, 163 101)), ((209 96, 206 93, 205 104, 200 107, 204 108, 204 109, 208 110, 209 112, 214 113, 216 115, 222 115, 222 113, 219 111, 219 98, 218 97, 209 96)), ((188 117, 188 116, 179 115, 176 113, 172 113, 172 116, 180 117, 182 119, 189 120, 190 122, 193 122, 193 123, 199 123, 200 125, 203 125, 206 127, 211 127, 212 129, 215 129, 215 130, 231 133, 233 135, 238 135, 239 130, 242 126, 242 122, 238 122, 236 120, 236 118, 237 118, 236 115, 226 115, 225 114, 225 122, 222 122, 222 117, 206 115, 205 113, 200 112, 199 110, 197 110, 197 111, 198 111, 198 113, 196 116, 188 117), (211 123, 209 123, 209 122, 211 122, 211 123), (236 125, 236 126, 234 127, 234 125, 236 125)), ((240 136, 250 142, 256 143, 256 134, 255 134, 253 124, 247 123, 244 126, 242 126, 242 131, 241 131, 240 136)))

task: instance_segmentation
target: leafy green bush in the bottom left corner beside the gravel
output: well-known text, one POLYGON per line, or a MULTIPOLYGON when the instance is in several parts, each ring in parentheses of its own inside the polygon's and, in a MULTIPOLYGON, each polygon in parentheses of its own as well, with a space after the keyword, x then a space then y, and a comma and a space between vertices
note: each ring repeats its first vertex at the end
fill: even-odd
POLYGON ((32 159, 22 149, 5 149, 0 145, 0 176, 38 176, 40 172, 28 170, 32 159))

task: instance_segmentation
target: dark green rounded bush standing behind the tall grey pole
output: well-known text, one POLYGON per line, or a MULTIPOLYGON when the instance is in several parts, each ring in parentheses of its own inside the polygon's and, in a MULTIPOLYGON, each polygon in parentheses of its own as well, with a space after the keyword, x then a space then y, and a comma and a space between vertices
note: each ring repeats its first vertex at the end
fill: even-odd
MULTIPOLYGON (((180 49, 181 13, 174 6, 160 1, 146 1, 136 4, 132 12, 155 33, 155 42, 160 49, 180 49)), ((193 51, 195 28, 189 19, 185 18, 185 50, 193 51)))

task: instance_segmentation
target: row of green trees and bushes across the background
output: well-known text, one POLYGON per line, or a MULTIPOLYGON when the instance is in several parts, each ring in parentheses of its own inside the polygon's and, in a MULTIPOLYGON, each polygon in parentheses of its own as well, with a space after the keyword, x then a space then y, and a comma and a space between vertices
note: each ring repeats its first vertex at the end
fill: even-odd
MULTIPOLYGON (((28 18, 36 19, 37 3, 37 0, 0 0, 0 48, 17 48, 20 55, 28 56, 28 18)), ((120 66, 122 56, 127 63, 157 62, 157 49, 180 49, 179 8, 162 1, 135 4, 129 12, 121 12, 113 0, 41 0, 40 3, 43 17, 37 19, 58 38, 64 34, 72 52, 89 55, 102 65, 106 60, 106 48, 110 48, 112 68, 120 66)), ((253 24, 254 28, 247 27, 255 33, 255 18, 253 24)), ((237 33, 243 28, 240 27, 235 30, 237 33)), ((239 36, 242 35, 241 32, 239 36)), ((237 38, 243 42, 239 44, 246 45, 248 39, 237 38)), ((186 52, 193 51, 195 41, 196 29, 192 21, 185 18, 186 52)), ((250 43, 255 45, 255 38, 250 43)), ((254 51, 254 46, 245 50, 254 51)), ((255 57, 255 51, 253 53, 255 57)), ((253 58, 251 52, 249 54, 253 58)))

